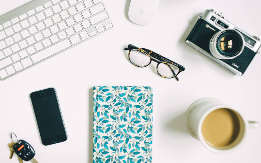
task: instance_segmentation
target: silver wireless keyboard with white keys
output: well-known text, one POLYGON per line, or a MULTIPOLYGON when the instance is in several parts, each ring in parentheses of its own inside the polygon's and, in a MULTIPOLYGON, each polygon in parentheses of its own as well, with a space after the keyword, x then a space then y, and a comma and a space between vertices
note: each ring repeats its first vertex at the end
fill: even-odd
POLYGON ((33 0, 0 16, 0 80, 113 27, 101 0, 33 0))

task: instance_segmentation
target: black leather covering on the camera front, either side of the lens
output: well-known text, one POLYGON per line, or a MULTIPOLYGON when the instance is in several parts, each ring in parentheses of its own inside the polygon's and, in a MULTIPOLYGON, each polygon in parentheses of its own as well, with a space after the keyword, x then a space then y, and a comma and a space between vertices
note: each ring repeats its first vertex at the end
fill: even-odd
MULTIPOLYGON (((211 40, 212 36, 219 31, 220 31, 219 29, 215 28, 213 25, 210 25, 207 21, 203 19, 199 19, 186 40, 191 41, 198 47, 202 48, 203 50, 211 54, 209 50, 209 41, 211 40), (215 31, 210 28, 207 28, 206 27, 207 24, 215 31)), ((233 67, 234 69, 242 72, 242 74, 244 74, 247 67, 253 60, 255 54, 256 54, 255 52, 253 52, 252 50, 250 50, 248 47, 245 46, 242 54, 240 54, 238 57, 234 59, 226 59, 221 61, 233 67), (237 65, 238 67, 234 65, 237 65)))

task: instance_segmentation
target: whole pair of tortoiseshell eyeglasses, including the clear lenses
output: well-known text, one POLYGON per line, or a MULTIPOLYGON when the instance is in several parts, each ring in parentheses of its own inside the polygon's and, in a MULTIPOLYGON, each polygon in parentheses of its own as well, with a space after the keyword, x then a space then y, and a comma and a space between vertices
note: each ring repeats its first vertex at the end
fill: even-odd
POLYGON ((129 50, 129 60, 138 67, 146 67, 151 64, 151 61, 157 62, 157 73, 163 78, 176 78, 177 75, 185 70, 185 67, 179 65, 160 54, 145 48, 139 48, 129 44, 124 50, 129 50))

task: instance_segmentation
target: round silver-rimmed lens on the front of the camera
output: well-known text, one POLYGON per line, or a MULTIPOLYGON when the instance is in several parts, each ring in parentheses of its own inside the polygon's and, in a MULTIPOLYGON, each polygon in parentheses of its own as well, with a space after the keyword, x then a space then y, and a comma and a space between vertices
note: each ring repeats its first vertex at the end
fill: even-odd
POLYGON ((211 54, 219 59, 233 59, 244 50, 244 37, 235 30, 217 32, 209 43, 211 54))

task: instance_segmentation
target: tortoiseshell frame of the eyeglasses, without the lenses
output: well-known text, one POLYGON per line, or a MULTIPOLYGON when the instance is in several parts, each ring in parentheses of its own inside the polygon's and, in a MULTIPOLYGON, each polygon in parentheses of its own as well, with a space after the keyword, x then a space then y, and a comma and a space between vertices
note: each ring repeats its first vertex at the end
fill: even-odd
POLYGON ((179 78, 177 77, 177 75, 180 74, 180 72, 185 70, 184 66, 182 66, 180 64, 177 64, 177 63, 169 60, 168 58, 165 58, 164 56, 161 56, 160 54, 157 54, 157 53, 155 53, 155 52, 153 52, 151 50, 145 49, 145 48, 139 48, 139 47, 136 47, 136 46, 134 46, 132 44, 129 44, 128 47, 125 48, 124 50, 129 50, 129 54, 128 54, 129 60, 130 60, 130 62, 133 65, 135 65, 137 67, 147 67, 148 65, 151 64, 152 61, 157 62, 157 68, 156 68, 157 69, 157 73, 161 77, 163 77, 163 78, 176 78, 176 80, 178 81, 179 78), (137 50, 137 51, 142 52, 143 54, 147 55, 148 57, 150 57, 150 62, 147 63, 144 66, 140 66, 140 65, 137 65, 137 64, 133 63, 131 61, 131 58, 130 58, 130 53, 131 53, 132 50, 137 50), (167 77, 167 76, 163 76, 162 74, 160 74, 159 71, 158 71, 158 66, 159 66, 160 63, 165 63, 171 69, 171 72, 173 73, 173 76, 167 77), (177 74, 174 72, 174 70, 171 68, 171 66, 169 64, 174 65, 175 67, 178 68, 177 74))

